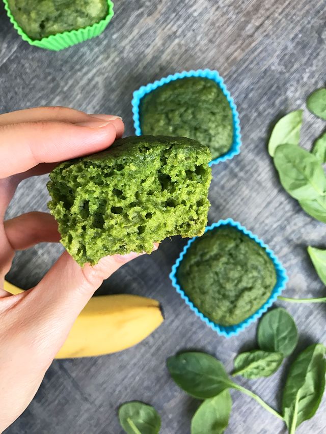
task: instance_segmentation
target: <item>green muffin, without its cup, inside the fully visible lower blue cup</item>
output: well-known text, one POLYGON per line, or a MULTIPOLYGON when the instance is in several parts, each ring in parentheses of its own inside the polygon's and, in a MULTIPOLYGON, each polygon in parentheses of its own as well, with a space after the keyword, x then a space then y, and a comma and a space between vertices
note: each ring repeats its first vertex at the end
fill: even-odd
POLYGON ((277 282, 265 250, 233 226, 208 230, 196 239, 177 278, 194 305, 222 326, 238 324, 255 313, 277 282))

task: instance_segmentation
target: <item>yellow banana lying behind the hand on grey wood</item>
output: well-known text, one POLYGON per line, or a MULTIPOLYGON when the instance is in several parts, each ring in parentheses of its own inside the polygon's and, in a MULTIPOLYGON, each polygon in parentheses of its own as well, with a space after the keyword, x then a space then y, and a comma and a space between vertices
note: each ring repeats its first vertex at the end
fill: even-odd
MULTIPOLYGON (((5 281, 5 290, 23 290, 5 281)), ((56 359, 116 353, 137 344, 164 320, 158 301, 129 294, 92 297, 56 359)))

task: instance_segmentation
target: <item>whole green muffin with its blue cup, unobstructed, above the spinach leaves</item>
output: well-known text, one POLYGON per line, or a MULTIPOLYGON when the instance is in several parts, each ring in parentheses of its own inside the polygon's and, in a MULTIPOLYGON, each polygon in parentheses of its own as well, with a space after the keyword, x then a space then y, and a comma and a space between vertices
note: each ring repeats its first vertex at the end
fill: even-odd
POLYGON ((256 235, 232 219, 187 243, 170 274, 186 304, 230 337, 257 320, 285 288, 281 263, 256 235))

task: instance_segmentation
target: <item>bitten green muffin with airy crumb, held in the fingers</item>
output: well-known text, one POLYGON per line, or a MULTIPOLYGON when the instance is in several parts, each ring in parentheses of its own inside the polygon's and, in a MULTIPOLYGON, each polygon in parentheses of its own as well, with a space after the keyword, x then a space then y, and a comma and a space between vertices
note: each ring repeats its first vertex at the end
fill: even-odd
POLYGON ((51 214, 78 264, 106 255, 150 253, 166 237, 202 235, 209 150, 184 137, 132 136, 50 173, 51 214))

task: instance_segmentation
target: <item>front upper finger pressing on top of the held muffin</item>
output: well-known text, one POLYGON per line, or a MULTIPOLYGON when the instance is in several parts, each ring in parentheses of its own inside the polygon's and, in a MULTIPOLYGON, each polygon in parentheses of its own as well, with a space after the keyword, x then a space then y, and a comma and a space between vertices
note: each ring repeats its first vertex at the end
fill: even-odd
POLYGON ((36 122, 2 126, 0 179, 40 163, 69 160, 106 149, 123 128, 120 118, 80 124, 36 122))

